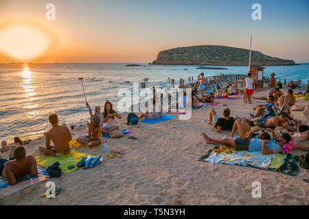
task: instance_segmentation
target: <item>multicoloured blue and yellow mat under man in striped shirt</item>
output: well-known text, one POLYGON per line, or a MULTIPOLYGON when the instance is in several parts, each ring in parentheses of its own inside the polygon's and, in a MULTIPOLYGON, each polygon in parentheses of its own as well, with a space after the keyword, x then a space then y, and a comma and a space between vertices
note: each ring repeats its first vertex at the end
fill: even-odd
POLYGON ((236 151, 236 149, 227 146, 215 146, 214 149, 207 151, 198 160, 211 164, 251 166, 296 176, 299 173, 297 159, 299 157, 290 153, 262 155, 260 151, 236 151))

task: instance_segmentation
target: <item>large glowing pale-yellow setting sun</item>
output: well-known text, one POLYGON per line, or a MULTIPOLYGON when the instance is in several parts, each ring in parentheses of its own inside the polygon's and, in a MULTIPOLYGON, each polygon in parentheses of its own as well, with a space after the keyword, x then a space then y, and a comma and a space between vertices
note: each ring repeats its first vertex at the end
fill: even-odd
POLYGON ((0 29, 0 51, 17 60, 30 60, 44 53, 50 37, 36 27, 14 24, 0 29))

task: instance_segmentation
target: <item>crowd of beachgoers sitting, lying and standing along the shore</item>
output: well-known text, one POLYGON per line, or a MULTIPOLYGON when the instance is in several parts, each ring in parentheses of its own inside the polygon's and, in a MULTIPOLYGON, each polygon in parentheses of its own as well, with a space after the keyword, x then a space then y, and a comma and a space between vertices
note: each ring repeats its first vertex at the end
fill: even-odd
MULTIPOLYGON (((238 94, 244 94, 243 103, 252 104, 252 94, 256 91, 256 86, 250 72, 247 76, 234 77, 231 74, 228 75, 229 77, 220 76, 210 78, 201 73, 196 81, 193 77, 188 77, 187 83, 185 83, 185 79, 180 79, 178 88, 183 89, 183 91, 176 94, 174 103, 171 101, 172 94, 165 91, 168 98, 168 111, 170 112, 174 105, 176 110, 185 109, 189 101, 192 101, 192 109, 197 109, 201 108, 203 104, 214 104, 215 99, 227 99, 229 96, 238 94), (191 89, 190 97, 187 96, 185 88, 191 89)), ((148 78, 141 82, 143 86, 145 81, 148 81, 148 78)), ((168 81, 174 86, 174 79, 168 78, 168 81)), ((301 125, 301 121, 291 118, 290 115, 290 109, 296 102, 293 84, 287 85, 290 89, 284 94, 280 90, 282 82, 276 82, 275 73, 272 73, 266 81, 269 81, 270 91, 268 96, 253 97, 253 99, 265 103, 253 107, 255 114, 249 114, 247 117, 231 116, 231 110, 225 108, 222 117, 220 117, 213 108, 209 110, 208 124, 214 125, 214 132, 221 133, 222 130, 231 130, 231 134, 229 138, 214 138, 203 133, 205 144, 227 144, 237 150, 261 151, 263 155, 268 155, 284 151, 286 145, 292 144, 293 141, 308 139, 309 126, 301 125), (279 136, 274 131, 277 127, 282 130, 279 136), (237 138, 234 137, 236 133, 238 133, 237 138)), ((295 83, 295 86, 299 83, 300 80, 295 83)), ((285 79, 284 85, 286 86, 285 79)), ((308 91, 306 95, 308 95, 308 91)), ((137 119, 155 120, 164 116, 162 100, 163 94, 158 95, 155 87, 153 87, 153 96, 150 99, 148 110, 137 116, 137 119)), ((113 110, 111 101, 105 101, 103 112, 101 112, 99 106, 95 106, 94 111, 92 111, 88 102, 86 102, 86 106, 89 110, 88 133, 86 136, 76 138, 76 142, 89 147, 98 146, 102 143, 102 133, 111 134, 120 131, 115 119, 122 119, 122 116, 113 110)), ((56 114, 49 115, 49 123, 52 125, 52 129, 45 133, 46 145, 40 146, 38 151, 55 157, 70 153, 69 142, 72 137, 68 127, 58 124, 59 120, 56 114), (54 145, 51 144, 51 141, 54 145)), ((27 174, 38 175, 36 159, 32 155, 26 155, 25 147, 20 138, 14 138, 14 143, 11 145, 8 145, 5 141, 1 144, 0 176, 7 179, 10 185, 14 185, 16 179, 27 174), (5 159, 2 155, 6 151, 10 151, 8 159, 5 159)))

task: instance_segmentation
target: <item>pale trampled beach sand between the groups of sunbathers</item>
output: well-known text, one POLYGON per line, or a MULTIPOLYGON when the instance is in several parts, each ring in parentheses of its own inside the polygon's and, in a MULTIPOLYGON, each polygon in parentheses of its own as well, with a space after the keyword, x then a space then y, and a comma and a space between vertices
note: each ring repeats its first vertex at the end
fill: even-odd
MULTIPOLYGON (((282 92, 286 94, 287 88, 282 92)), ((267 94, 265 89, 253 96, 267 94)), ((297 104, 306 104, 303 99, 297 99, 297 104)), ((213 108, 219 115, 229 107, 231 116, 249 116, 252 107, 260 104, 253 101, 245 105, 241 99, 216 102, 220 105, 213 108)), ((56 186, 65 188, 56 198, 40 197, 47 189, 45 181, 1 199, 0 205, 308 205, 309 184, 302 179, 309 178, 309 170, 304 168, 295 177, 248 166, 199 162, 198 158, 214 147, 203 144, 203 132, 217 137, 231 132, 212 131, 212 126, 207 125, 209 109, 193 110, 190 120, 177 117, 155 125, 128 126, 124 114, 116 123, 121 129, 137 130, 133 133, 137 140, 107 139, 108 149, 124 150, 123 157, 104 156, 102 164, 93 169, 79 169, 52 178, 56 186), (251 196, 254 181, 262 183, 262 198, 251 196)), ((302 112, 292 115, 308 123, 302 112)), ((72 136, 75 138, 85 131, 86 126, 76 127, 72 136)), ((28 154, 38 155, 38 146, 44 145, 45 139, 41 138, 25 148, 28 154)), ((98 149, 73 149, 102 154, 103 144, 98 149)), ((304 152, 293 150, 293 153, 304 152)))

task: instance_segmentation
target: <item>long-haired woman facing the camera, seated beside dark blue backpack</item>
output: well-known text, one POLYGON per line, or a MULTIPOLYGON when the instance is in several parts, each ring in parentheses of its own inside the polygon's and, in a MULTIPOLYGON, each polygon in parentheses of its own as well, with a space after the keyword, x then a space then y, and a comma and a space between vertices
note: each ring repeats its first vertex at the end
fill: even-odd
POLYGON ((106 101, 102 113, 102 120, 104 123, 102 130, 105 133, 111 133, 111 131, 119 129, 119 126, 115 124, 115 117, 122 119, 122 116, 119 116, 119 114, 113 110, 113 104, 110 101, 106 101))

